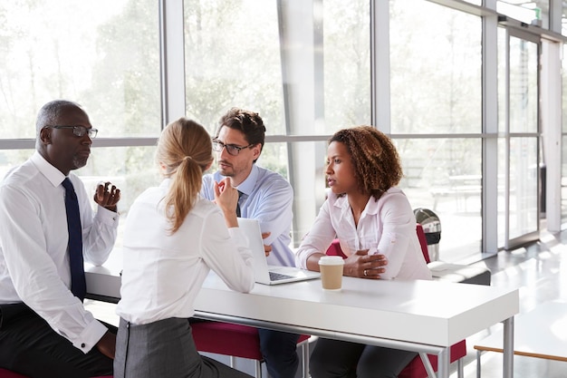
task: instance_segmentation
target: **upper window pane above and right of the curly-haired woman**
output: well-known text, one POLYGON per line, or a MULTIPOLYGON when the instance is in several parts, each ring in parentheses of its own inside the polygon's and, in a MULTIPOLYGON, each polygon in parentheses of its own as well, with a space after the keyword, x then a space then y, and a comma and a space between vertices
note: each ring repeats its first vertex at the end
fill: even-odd
POLYGON ((391 132, 481 132, 482 19, 422 0, 390 15, 391 132))

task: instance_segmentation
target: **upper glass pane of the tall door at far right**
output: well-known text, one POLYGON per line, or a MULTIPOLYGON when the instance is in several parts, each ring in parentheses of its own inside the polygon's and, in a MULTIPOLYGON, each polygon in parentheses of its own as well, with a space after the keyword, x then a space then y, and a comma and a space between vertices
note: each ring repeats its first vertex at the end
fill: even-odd
POLYGON ((538 131, 537 44, 510 37, 510 132, 538 131))

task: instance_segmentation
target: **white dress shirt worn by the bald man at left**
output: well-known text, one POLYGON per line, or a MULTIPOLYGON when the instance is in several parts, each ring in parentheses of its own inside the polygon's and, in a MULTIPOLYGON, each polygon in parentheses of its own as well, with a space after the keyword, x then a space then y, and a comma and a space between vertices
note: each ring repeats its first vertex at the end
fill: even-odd
MULTIPOLYGON (((0 186, 0 304, 24 302, 87 353, 107 328, 73 296, 67 252, 65 176, 35 152, 0 186)), ((91 209, 81 179, 69 175, 79 199, 85 262, 101 265, 116 239, 118 214, 91 209)))

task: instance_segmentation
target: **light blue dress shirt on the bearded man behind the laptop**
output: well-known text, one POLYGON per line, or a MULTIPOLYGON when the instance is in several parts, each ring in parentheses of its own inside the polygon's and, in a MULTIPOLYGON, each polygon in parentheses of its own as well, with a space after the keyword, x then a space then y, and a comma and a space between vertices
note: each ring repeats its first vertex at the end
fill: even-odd
MULTIPOLYGON (((218 171, 203 176, 201 195, 215 199, 215 181, 225 177, 218 171)), ((293 189, 279 173, 252 165, 248 177, 237 188, 244 195, 239 200, 242 218, 257 219, 262 232, 271 235, 264 239, 264 245, 272 246, 268 264, 293 267, 295 265, 290 229, 293 219, 293 189)))

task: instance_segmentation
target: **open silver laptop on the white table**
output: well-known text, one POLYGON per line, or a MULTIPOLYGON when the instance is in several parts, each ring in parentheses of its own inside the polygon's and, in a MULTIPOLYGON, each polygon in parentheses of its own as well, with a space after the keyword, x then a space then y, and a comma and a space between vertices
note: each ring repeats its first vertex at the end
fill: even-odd
POLYGON ((269 266, 264 253, 264 240, 260 222, 257 219, 238 218, 238 227, 248 237, 250 249, 254 257, 255 281, 263 285, 277 285, 287 282, 304 281, 319 278, 321 273, 304 270, 298 267, 269 266))

